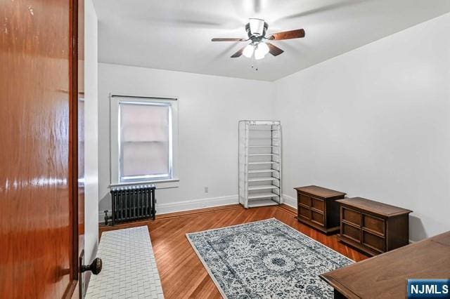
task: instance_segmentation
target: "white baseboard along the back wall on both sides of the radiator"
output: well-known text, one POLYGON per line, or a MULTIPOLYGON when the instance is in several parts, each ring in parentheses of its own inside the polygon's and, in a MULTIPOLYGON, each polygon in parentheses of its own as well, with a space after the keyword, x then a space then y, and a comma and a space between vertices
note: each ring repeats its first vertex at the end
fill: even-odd
MULTIPOLYGON (((176 201, 167 204, 156 204, 156 215, 168 213, 184 212, 198 210, 202 208, 213 208, 216 206, 229 206, 239 204, 238 195, 229 195, 226 197, 210 197, 205 199, 191 199, 187 201, 176 201)), ((109 213, 110 215, 110 213, 109 213)), ((104 223, 104 213, 98 213, 98 223, 104 223)))

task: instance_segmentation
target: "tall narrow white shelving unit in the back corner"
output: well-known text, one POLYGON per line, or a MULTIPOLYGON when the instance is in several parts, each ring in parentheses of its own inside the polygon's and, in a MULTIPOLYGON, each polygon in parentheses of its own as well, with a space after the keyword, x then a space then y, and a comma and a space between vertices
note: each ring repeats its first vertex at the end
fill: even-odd
POLYGON ((240 204, 282 203, 280 121, 239 121, 238 163, 240 204))

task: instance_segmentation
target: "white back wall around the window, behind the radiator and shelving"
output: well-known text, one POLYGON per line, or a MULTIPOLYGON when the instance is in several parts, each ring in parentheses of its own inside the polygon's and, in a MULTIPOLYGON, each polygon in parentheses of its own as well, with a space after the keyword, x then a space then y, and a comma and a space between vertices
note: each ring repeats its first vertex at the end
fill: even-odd
POLYGON ((158 213, 238 203, 238 120, 271 119, 271 82, 101 63, 98 88, 101 221, 110 210, 109 93, 179 98, 180 182, 157 190, 158 213))

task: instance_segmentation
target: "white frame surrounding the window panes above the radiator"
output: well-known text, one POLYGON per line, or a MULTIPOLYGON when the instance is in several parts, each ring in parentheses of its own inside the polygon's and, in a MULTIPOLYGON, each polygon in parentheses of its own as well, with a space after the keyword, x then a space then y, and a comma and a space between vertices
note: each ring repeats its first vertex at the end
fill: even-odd
POLYGON ((110 94, 110 186, 155 184, 159 188, 178 187, 178 98, 110 94), (171 176, 151 178, 143 175, 142 180, 120 181, 123 166, 120 139, 120 104, 169 106, 169 174, 171 176))

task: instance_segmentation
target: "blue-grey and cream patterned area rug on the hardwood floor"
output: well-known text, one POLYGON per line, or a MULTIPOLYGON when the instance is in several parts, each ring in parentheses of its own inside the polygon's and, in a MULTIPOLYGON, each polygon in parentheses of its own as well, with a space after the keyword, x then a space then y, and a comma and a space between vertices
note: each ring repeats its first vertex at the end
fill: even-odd
POLYGON ((353 263, 274 218, 186 237, 224 298, 333 298, 319 274, 353 263))

